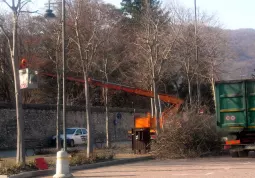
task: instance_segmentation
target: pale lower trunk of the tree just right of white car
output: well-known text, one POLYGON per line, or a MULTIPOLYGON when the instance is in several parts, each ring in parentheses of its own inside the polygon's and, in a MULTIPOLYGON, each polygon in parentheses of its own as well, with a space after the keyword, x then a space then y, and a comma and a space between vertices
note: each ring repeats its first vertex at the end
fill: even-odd
POLYGON ((87 119, 87 158, 93 153, 93 137, 92 137, 92 127, 91 127, 91 108, 90 108, 90 97, 89 97, 89 85, 88 76, 86 71, 83 72, 85 81, 85 99, 86 99, 86 119, 87 119))

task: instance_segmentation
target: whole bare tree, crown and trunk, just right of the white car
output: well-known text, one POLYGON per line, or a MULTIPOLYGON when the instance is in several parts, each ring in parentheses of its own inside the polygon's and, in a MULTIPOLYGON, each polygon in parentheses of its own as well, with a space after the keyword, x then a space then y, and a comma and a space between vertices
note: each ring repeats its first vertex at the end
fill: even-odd
MULTIPOLYGON (((91 73, 98 49, 102 44, 101 31, 103 29, 103 13, 100 3, 89 0, 76 0, 69 6, 73 18, 74 35, 71 42, 78 48, 78 62, 85 81, 86 120, 87 120, 87 157, 93 152, 93 133, 91 121, 91 104, 88 77, 91 73)), ((77 69, 76 69, 77 70, 77 69)))

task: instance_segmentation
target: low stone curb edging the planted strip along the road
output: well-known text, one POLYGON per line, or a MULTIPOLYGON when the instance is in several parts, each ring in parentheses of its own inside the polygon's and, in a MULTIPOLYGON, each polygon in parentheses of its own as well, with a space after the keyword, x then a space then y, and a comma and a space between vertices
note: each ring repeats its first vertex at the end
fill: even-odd
MULTIPOLYGON (((100 167, 106 167, 106 166, 114 166, 119 164, 128 164, 128 163, 135 163, 140 161, 148 161, 152 160, 152 156, 144 156, 139 158, 128 158, 128 159, 119 159, 119 160, 113 160, 113 161, 105 161, 105 162, 99 162, 94 164, 86 164, 81 166, 72 166, 70 167, 70 171, 78 171, 78 170, 84 170, 84 169, 96 169, 100 167)), ((16 175, 0 175, 0 178, 32 178, 32 177, 40 177, 40 176, 48 176, 55 174, 55 169, 48 169, 48 170, 39 170, 39 171, 30 171, 30 172, 23 172, 16 175)))

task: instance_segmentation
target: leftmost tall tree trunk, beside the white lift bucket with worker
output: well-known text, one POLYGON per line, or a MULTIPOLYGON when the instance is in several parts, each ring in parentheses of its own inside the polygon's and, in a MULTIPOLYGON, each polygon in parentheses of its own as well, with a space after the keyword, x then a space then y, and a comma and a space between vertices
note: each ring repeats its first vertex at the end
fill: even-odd
POLYGON ((17 118, 17 155, 16 162, 25 164, 25 142, 24 142, 24 115, 22 108, 22 98, 19 80, 19 61, 17 55, 17 28, 18 17, 17 13, 13 12, 13 46, 11 50, 11 62, 14 77, 15 87, 15 103, 16 103, 16 118, 17 118))

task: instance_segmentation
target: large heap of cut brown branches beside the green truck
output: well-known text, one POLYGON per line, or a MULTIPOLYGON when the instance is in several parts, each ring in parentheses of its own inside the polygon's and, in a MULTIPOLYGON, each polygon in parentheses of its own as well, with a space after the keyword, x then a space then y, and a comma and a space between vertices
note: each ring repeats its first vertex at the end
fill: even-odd
POLYGON ((219 153, 221 134, 214 116, 186 112, 169 119, 152 147, 158 158, 194 158, 219 153))

